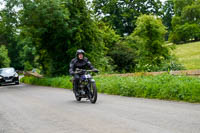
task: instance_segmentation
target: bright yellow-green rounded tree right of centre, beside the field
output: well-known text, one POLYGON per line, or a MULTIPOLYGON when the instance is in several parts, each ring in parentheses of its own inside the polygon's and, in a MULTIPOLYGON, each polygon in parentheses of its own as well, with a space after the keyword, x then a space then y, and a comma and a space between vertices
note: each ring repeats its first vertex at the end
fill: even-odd
POLYGON ((129 40, 138 49, 137 70, 153 71, 170 55, 169 48, 164 43, 165 26, 159 18, 152 15, 140 16, 136 25, 129 40))

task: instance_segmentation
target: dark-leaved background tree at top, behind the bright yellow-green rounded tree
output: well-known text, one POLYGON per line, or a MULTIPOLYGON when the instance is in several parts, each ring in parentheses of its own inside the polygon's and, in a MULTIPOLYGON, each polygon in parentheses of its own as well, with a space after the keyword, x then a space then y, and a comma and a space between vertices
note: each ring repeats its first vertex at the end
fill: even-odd
POLYGON ((160 0, 93 0, 94 11, 104 22, 124 36, 135 29, 141 14, 160 15, 160 0))

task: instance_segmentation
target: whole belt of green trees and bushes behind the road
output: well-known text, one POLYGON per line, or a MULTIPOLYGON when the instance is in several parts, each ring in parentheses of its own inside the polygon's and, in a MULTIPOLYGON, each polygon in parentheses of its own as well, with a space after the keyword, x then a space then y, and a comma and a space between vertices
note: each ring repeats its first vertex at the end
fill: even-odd
POLYGON ((67 75, 77 49, 83 49, 103 73, 181 70, 182 62, 165 41, 176 45, 200 40, 200 0, 3 0, 2 4, 0 45, 8 50, 3 55, 10 61, 0 64, 38 69, 48 77, 67 75))

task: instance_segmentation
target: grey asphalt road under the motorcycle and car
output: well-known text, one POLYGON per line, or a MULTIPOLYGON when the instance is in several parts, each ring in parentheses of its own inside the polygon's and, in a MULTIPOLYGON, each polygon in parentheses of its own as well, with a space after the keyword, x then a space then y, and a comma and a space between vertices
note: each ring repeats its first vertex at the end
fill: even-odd
POLYGON ((0 133, 200 133, 200 104, 104 94, 91 104, 66 89, 1 86, 0 133))

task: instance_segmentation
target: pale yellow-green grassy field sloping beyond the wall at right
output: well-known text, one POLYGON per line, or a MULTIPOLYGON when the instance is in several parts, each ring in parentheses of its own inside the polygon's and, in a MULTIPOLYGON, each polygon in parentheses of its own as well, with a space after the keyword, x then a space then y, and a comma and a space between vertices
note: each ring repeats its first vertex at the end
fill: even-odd
POLYGON ((200 69, 200 42, 177 45, 174 53, 186 69, 200 69))

